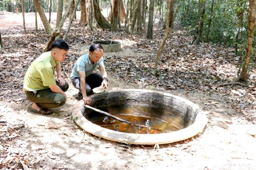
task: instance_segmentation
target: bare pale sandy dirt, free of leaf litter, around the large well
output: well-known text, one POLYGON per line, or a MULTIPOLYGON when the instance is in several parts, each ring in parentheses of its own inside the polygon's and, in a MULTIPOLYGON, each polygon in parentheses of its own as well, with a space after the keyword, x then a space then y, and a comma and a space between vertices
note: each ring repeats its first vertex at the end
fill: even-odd
MULTIPOLYGON (((3 20, 0 22, 3 26, 3 20)), ((12 22, 20 22, 20 19, 12 22)), ((79 48, 83 54, 88 46, 79 48)), ((121 52, 105 55, 122 56, 124 53, 125 56, 129 54, 129 57, 136 57, 139 52, 122 49, 121 52)), ((205 111, 208 123, 203 133, 193 138, 153 149, 153 145, 124 145, 84 132, 72 120, 71 111, 77 103, 77 90, 72 86, 70 79, 67 81, 70 85, 67 103, 53 109, 52 115, 42 116, 30 112, 31 102, 26 99, 25 94, 0 101, 0 121, 6 122, 10 127, 19 126, 20 130, 19 136, 1 136, 1 140, 9 140, 12 152, 26 157, 31 169, 256 169, 255 122, 233 115, 234 110, 225 106, 224 96, 199 91, 164 91, 199 105, 205 111), (217 102, 209 104, 212 101, 217 102)), ((125 82, 109 75, 109 90, 129 88, 149 90, 149 87, 125 82)), ((96 90, 101 91, 101 88, 96 90)))

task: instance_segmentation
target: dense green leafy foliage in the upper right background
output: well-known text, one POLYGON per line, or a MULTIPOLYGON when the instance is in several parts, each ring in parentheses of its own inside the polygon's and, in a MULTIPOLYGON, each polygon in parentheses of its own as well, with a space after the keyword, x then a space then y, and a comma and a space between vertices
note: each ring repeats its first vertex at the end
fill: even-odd
MULTIPOLYGON (((180 23, 183 26, 187 26, 189 35, 197 34, 198 1, 190 0, 188 18, 186 18, 187 3, 188 1, 185 1, 183 11, 179 10, 177 20, 180 20, 180 17, 183 18, 180 23), (190 32, 191 30, 195 31, 190 32)), ((208 21, 211 15, 211 3, 211 0, 206 1, 204 36, 207 32, 208 21)), ((235 47, 237 45, 239 54, 243 55, 247 45, 248 4, 248 0, 223 0, 219 1, 219 3, 215 0, 208 40, 229 47, 235 47), (238 39, 236 38, 237 34, 238 39)), ((254 35, 256 36, 256 32, 254 35)), ((255 47, 256 44, 253 41, 253 48, 255 47)))

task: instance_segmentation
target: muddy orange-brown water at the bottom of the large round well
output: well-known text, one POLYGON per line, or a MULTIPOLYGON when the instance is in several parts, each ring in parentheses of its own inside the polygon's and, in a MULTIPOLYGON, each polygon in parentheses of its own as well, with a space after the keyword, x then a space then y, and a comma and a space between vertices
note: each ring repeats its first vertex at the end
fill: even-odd
POLYGON ((123 123, 95 111, 87 115, 87 119, 92 123, 99 125, 103 128, 115 130, 118 132, 156 134, 173 132, 189 126, 188 122, 179 116, 169 116, 165 120, 161 119, 161 117, 157 116, 157 110, 151 110, 153 112, 151 115, 154 115, 154 117, 143 116, 149 115, 148 113, 145 114, 145 112, 149 112, 150 110, 141 106, 121 106, 115 108, 108 108, 103 111, 115 115, 123 120, 127 120, 131 123, 146 125, 150 127, 142 128, 136 125, 123 123))

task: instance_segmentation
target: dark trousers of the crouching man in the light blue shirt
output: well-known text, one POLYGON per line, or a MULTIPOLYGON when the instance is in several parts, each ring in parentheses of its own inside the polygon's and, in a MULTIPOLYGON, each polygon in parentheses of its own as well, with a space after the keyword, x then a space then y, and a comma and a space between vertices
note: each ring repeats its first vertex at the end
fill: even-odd
MULTIPOLYGON (((87 77, 85 77, 85 83, 89 85, 90 88, 86 87, 86 92, 90 92, 93 88, 101 86, 103 79, 100 74, 94 73, 90 74, 87 77)), ((81 91, 81 85, 80 85, 80 77, 76 77, 72 79, 73 86, 81 91)))

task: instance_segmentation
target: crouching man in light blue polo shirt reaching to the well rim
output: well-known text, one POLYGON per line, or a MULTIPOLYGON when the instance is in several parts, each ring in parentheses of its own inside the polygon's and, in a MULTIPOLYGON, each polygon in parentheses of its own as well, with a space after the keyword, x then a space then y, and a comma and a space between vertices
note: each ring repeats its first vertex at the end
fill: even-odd
POLYGON ((104 67, 103 47, 100 44, 93 44, 89 48, 89 54, 79 57, 71 73, 73 86, 83 96, 85 104, 91 104, 89 95, 93 94, 95 87, 108 88, 107 72, 104 67), (99 65, 101 75, 92 72, 99 65))

